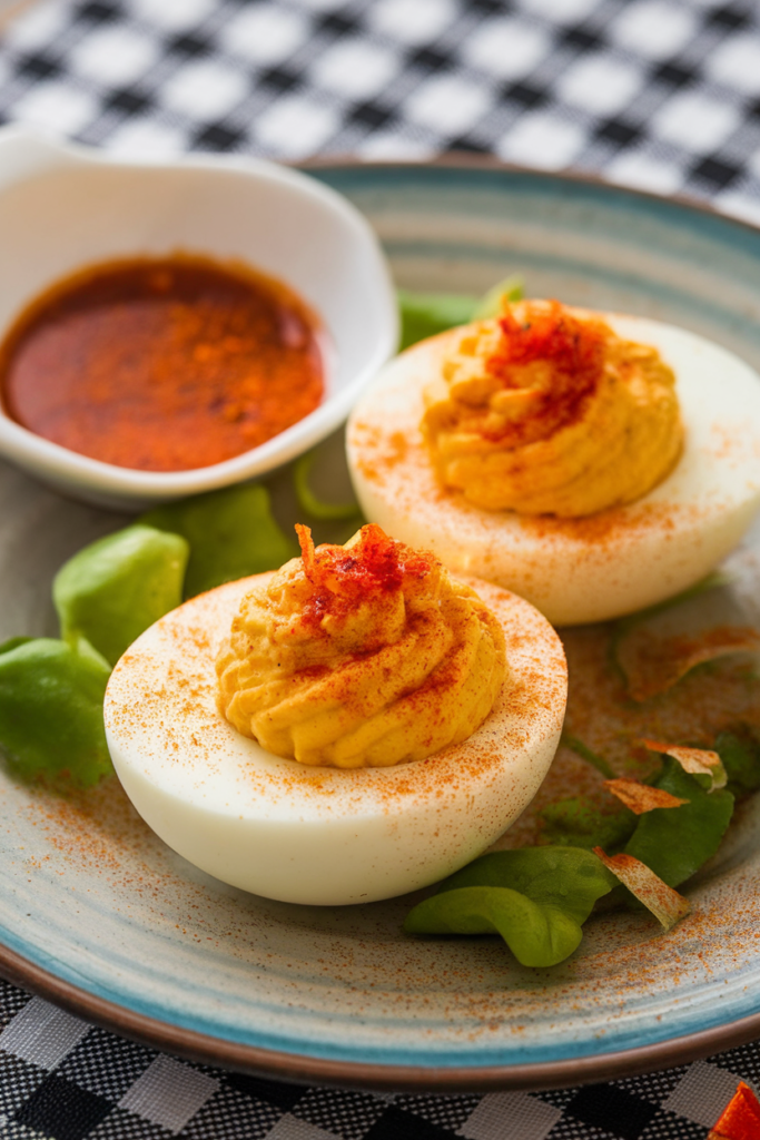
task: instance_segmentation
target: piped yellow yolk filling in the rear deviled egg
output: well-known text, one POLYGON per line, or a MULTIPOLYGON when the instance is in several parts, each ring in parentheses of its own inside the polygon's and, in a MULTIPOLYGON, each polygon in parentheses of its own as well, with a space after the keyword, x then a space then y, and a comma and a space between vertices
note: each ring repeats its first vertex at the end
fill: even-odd
POLYGON ((506 304, 465 329, 425 405, 440 481, 491 511, 577 518, 631 503, 683 447, 656 349, 558 301, 506 304))

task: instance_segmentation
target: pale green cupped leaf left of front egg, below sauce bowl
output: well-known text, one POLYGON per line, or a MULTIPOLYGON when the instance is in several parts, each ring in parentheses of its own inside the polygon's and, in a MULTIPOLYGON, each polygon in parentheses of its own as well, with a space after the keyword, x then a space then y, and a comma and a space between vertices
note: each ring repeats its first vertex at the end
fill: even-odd
POLYGON ((136 524, 84 546, 55 577, 60 636, 84 637, 112 666, 182 601, 189 547, 178 535, 136 524))

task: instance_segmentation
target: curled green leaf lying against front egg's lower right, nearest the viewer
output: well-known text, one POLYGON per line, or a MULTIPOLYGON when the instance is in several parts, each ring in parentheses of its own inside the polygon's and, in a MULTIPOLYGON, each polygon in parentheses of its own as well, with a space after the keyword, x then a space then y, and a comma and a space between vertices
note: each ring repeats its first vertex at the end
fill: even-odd
POLYGON ((492 852, 457 871, 407 915, 407 934, 499 934, 523 966, 556 966, 616 879, 578 847, 492 852))

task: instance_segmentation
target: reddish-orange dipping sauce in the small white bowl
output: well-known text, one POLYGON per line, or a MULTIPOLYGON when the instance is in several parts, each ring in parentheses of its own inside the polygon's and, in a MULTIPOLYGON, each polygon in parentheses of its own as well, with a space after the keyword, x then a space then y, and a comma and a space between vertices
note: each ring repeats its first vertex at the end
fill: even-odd
POLYGON ((221 463, 321 401, 319 324, 292 290, 190 254, 92 266, 38 298, 0 345, 7 415, 141 471, 221 463))

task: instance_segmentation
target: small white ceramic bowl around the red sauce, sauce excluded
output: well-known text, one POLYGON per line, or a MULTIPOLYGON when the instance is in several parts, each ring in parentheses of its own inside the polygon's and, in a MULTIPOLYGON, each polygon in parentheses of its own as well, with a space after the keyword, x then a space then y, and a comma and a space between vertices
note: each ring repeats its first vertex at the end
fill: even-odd
POLYGON ((251 451, 169 473, 79 455, 0 408, 1 456, 60 491, 122 508, 242 482, 333 431, 395 348, 393 288, 373 231, 341 195, 305 174, 247 157, 122 161, 26 130, 0 130, 0 335, 67 274, 175 250, 242 259, 319 314, 334 349, 324 402, 251 451))

